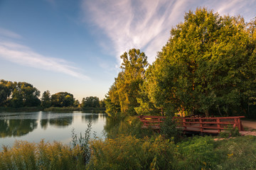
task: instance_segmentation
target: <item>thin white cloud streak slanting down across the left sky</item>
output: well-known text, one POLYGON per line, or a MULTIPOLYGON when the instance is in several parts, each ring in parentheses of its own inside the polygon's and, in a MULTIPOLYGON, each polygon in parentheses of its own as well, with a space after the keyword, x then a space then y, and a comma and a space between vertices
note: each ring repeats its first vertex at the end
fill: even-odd
POLYGON ((16 42, 0 41, 0 58, 28 67, 68 74, 79 79, 90 79, 80 74, 77 68, 71 66, 70 62, 58 58, 45 57, 16 42))

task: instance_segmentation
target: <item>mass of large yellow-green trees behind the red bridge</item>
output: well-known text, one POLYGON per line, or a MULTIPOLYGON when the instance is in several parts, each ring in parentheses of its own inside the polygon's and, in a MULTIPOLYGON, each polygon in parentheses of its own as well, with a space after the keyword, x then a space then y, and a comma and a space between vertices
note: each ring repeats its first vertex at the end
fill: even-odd
POLYGON ((137 49, 120 57, 122 71, 106 98, 110 116, 256 118, 256 18, 246 23, 198 8, 171 29, 153 64, 137 49))

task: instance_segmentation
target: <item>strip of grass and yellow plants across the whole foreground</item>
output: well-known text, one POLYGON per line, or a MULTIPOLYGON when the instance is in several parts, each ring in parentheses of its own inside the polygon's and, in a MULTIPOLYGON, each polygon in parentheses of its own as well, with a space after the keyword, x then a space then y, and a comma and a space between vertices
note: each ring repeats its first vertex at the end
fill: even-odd
POLYGON ((0 152, 0 169, 256 169, 256 137, 214 141, 191 137, 175 143, 164 137, 120 135, 92 140, 90 162, 79 145, 16 142, 0 152))

